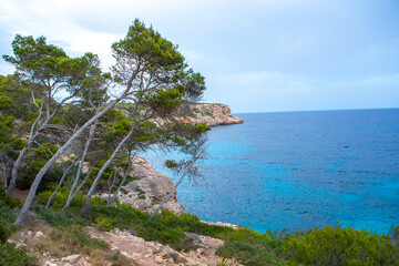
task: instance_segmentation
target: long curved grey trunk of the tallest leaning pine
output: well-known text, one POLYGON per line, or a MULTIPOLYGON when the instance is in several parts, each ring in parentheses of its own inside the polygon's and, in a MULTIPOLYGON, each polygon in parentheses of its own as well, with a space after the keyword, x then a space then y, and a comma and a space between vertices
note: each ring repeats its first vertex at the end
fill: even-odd
POLYGON ((108 111, 110 111, 111 109, 113 109, 115 106, 115 104, 121 101, 125 95, 126 95, 127 91, 125 91, 123 93, 123 96, 115 99, 113 101, 110 102, 110 104, 103 109, 101 112, 99 112, 98 114, 95 114, 93 117, 91 117, 88 122, 85 122, 66 142, 65 144, 63 144, 58 151, 57 153, 54 153, 54 155, 45 163, 45 165, 39 171, 39 173, 37 174, 31 188, 29 191, 28 197, 22 206, 22 209, 20 212, 20 214, 18 215, 18 218, 16 219, 16 222, 13 223, 13 225, 19 226, 22 224, 23 219, 25 218, 28 211, 32 204, 33 197, 35 195, 35 192, 38 190, 38 186, 41 182, 41 180, 43 178, 43 175, 48 172, 48 170, 54 164, 54 162, 57 161, 57 158, 63 154, 66 149, 76 140, 78 136, 80 136, 82 134, 82 132, 88 129, 92 123, 94 123, 95 121, 98 121, 102 115, 104 115, 108 111))

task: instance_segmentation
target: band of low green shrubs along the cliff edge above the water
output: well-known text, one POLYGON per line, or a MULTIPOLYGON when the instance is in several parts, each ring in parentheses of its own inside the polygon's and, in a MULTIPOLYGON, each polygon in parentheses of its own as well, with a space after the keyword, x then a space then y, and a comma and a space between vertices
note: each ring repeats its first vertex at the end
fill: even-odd
POLYGON ((80 216, 80 207, 57 212, 37 205, 33 209, 54 226, 91 224, 104 231, 116 227, 145 241, 168 244, 176 250, 195 248, 187 233, 217 237, 225 241, 217 254, 234 257, 243 265, 397 265, 399 254, 398 226, 392 226, 389 235, 327 226, 277 236, 276 232, 260 234, 250 228, 207 225, 195 215, 175 215, 167 211, 150 223, 149 214, 123 204, 117 207, 93 205, 89 218, 80 216))

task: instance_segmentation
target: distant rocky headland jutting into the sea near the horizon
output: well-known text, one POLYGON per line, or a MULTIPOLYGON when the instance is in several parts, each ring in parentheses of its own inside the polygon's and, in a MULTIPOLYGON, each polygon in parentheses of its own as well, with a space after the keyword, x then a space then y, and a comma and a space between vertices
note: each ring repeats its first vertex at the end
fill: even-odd
POLYGON ((242 124, 244 120, 232 115, 228 105, 216 103, 191 104, 190 111, 181 111, 177 117, 187 123, 206 123, 209 126, 242 124))

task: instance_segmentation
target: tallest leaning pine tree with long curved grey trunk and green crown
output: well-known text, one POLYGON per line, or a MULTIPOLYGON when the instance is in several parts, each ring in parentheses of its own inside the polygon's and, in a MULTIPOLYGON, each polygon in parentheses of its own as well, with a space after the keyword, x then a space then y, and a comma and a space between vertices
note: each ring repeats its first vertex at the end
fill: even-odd
MULTIPOLYGON (((39 171, 14 225, 20 225, 25 218, 43 175, 54 164, 55 160, 93 123, 112 110, 116 103, 126 100, 136 106, 137 117, 134 119, 130 131, 133 132, 130 136, 133 136, 136 129, 140 127, 140 123, 147 121, 152 114, 162 116, 164 113, 173 112, 185 101, 200 99, 205 90, 204 78, 187 69, 187 64, 177 51, 176 45, 162 38, 152 28, 146 28, 139 20, 133 22, 123 40, 112 45, 112 50, 116 60, 113 73, 114 81, 117 83, 116 88, 119 88, 117 95, 113 96, 106 105, 81 125, 39 171), (146 109, 151 110, 146 111, 146 109), (142 113, 143 110, 144 114, 142 113)), ((23 69, 23 71, 30 71, 30 69, 23 69)), ((126 139, 129 140, 130 136, 126 139)), ((123 147, 123 144, 120 145, 120 149, 123 147)), ((100 177, 96 176, 96 178, 100 177)), ((89 207, 90 197, 94 190, 95 186, 89 192, 83 213, 89 207)))

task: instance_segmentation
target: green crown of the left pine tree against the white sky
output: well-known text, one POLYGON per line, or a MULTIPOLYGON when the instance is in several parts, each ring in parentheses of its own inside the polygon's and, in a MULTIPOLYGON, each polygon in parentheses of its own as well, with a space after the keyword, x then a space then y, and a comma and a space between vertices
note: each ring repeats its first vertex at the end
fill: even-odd
MULTIPOLYGON (((96 55, 86 53, 81 58, 69 58, 61 48, 48 44, 44 37, 34 39, 17 34, 12 50, 14 57, 3 55, 4 61, 12 63, 18 73, 37 89, 43 90, 44 84, 48 91, 63 88, 72 94, 81 93, 84 99, 82 90, 91 91, 89 94, 92 95, 90 89, 104 82, 101 79, 109 79, 108 74, 102 75, 96 55)), ((103 95, 91 100, 103 101, 103 95)))

